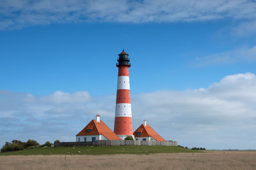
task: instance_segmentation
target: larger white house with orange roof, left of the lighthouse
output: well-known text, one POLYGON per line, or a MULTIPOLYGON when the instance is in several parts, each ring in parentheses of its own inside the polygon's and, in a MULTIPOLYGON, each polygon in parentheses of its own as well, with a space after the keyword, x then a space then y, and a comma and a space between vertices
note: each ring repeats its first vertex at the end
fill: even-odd
POLYGON ((92 120, 84 129, 76 135, 77 142, 100 141, 100 140, 122 140, 109 127, 100 120, 100 115, 96 115, 96 120, 92 120))

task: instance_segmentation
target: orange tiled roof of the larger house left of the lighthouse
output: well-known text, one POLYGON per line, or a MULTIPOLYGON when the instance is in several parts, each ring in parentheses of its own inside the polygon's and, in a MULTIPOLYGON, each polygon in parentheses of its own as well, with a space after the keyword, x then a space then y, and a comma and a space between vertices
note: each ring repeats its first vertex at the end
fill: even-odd
POLYGON ((104 124, 100 120, 100 122, 97 122, 96 120, 92 120, 84 129, 79 132, 76 136, 84 136, 84 135, 99 135, 102 134, 107 138, 108 140, 122 140, 115 134, 109 127, 104 124), (92 131, 88 132, 87 129, 92 129, 92 131))

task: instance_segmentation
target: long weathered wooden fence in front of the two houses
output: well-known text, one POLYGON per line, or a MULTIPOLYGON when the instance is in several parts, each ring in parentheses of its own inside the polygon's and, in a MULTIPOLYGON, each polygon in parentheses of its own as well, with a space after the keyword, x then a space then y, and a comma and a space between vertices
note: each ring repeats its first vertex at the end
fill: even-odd
POLYGON ((88 142, 60 142, 54 143, 55 147, 58 146, 177 146, 177 141, 88 141, 88 142))

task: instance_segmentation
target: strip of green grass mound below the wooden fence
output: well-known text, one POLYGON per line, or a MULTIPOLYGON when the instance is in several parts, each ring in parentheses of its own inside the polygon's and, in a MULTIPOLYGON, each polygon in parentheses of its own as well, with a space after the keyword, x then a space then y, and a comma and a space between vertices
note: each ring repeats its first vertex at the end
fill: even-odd
POLYGON ((113 154, 150 154, 150 153, 184 153, 198 152, 196 150, 185 149, 179 146, 105 146, 105 147, 56 147, 56 148, 36 148, 31 150, 21 150, 16 152, 0 153, 4 155, 113 155, 113 154), (81 152, 81 153, 79 153, 81 152))

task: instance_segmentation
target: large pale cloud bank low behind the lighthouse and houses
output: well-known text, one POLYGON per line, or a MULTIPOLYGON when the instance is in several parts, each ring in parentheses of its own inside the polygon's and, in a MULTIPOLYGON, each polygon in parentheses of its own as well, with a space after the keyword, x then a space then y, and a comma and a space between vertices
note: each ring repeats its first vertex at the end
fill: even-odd
MULTIPOLYGON (((113 129, 115 95, 54 92, 47 97, 0 92, 0 143, 33 138, 40 143, 74 136, 96 114, 113 129)), ((254 148, 256 76, 225 76, 207 89, 160 90, 132 95, 135 130, 146 118, 161 136, 180 145, 206 148, 254 148)))

